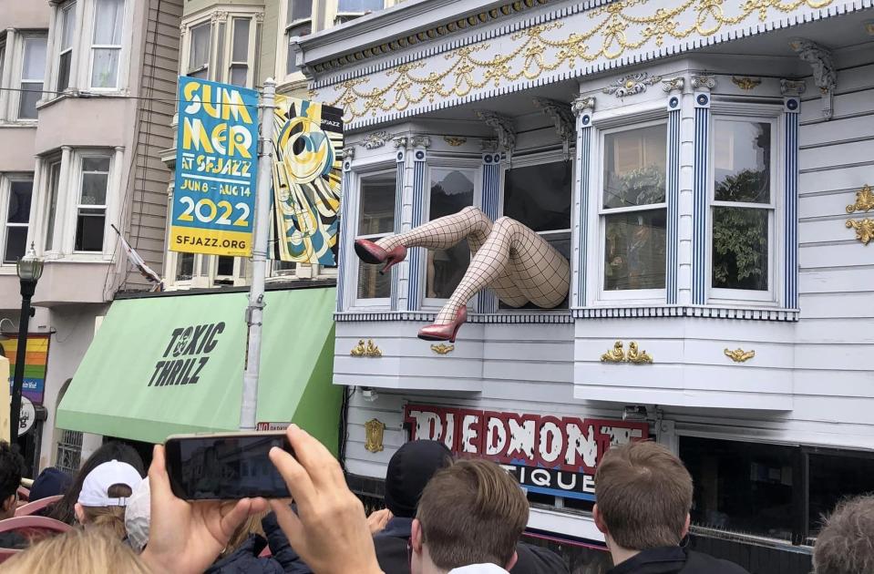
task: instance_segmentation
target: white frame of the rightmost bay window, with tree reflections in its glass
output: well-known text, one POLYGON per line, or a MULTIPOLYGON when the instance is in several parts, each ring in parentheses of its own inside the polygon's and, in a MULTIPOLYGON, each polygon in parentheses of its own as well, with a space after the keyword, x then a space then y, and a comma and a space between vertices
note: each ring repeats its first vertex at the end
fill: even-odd
POLYGON ((709 166, 707 169, 707 211, 706 211, 706 261, 707 273, 707 302, 715 304, 747 304, 756 302, 756 306, 777 306, 779 304, 778 285, 782 285, 782 272, 777 270, 778 261, 776 253, 783 252, 783 239, 781 217, 783 212, 783 183, 779 175, 782 173, 780 166, 785 165, 783 147, 780 142, 784 138, 784 128, 779 118, 782 113, 780 106, 750 105, 745 104, 742 109, 731 105, 714 103, 711 108, 709 141, 713 142, 710 150, 709 166), (767 123, 771 126, 771 165, 770 165, 770 201, 768 203, 741 203, 735 201, 715 201, 715 149, 716 149, 716 122, 738 121, 767 123), (754 208, 768 211, 768 257, 767 257, 767 290, 754 291, 747 289, 725 289, 713 286, 713 211, 715 207, 754 208))

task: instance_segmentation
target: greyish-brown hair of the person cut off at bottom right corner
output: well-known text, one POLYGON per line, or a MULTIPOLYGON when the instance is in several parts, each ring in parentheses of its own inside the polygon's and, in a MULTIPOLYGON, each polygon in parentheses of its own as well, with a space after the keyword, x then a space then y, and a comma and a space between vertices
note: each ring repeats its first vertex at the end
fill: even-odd
POLYGON ((874 495, 835 507, 813 547, 813 567, 817 574, 874 572, 874 495))

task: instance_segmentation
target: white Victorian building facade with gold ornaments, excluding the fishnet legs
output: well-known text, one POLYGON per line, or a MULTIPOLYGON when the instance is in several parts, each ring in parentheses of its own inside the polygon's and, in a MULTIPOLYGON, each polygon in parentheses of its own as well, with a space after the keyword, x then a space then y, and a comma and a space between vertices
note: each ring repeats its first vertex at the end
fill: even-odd
POLYGON ((507 465, 531 532, 601 564, 591 474, 649 437, 693 474, 694 544, 809 571, 820 514, 874 487, 871 6, 413 0, 294 41, 345 112, 351 481, 375 492, 397 446, 443 440, 507 465), (467 246, 380 275, 353 241, 468 206, 549 241, 570 294, 487 290, 426 343, 467 246))

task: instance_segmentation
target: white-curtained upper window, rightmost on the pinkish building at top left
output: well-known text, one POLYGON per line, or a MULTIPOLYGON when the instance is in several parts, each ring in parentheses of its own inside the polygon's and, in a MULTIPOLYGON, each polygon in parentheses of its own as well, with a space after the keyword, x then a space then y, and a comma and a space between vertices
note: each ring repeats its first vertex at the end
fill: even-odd
POLYGON ((118 88, 118 63, 125 0, 95 0, 91 43, 91 87, 118 88))

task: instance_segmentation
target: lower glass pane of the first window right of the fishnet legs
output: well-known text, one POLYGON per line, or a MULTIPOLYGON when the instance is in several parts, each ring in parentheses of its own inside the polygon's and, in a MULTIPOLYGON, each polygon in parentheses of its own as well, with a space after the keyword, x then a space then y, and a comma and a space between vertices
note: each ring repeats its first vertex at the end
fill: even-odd
POLYGON ((664 210, 608 215, 604 289, 664 288, 664 210))

